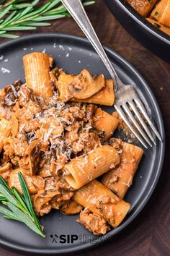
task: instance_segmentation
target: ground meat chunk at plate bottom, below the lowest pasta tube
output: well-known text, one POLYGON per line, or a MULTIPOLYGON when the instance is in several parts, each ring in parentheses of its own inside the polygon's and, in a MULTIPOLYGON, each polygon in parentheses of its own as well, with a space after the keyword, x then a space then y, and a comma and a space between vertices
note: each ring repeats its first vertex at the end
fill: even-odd
POLYGON ((95 213, 90 213, 89 210, 81 211, 78 222, 95 235, 106 234, 109 230, 109 226, 107 226, 104 218, 95 213))

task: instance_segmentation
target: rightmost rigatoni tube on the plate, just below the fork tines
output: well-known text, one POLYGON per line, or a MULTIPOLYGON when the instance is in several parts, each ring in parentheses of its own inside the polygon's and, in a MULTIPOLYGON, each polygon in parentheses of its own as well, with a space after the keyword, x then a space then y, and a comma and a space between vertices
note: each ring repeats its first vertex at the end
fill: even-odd
POLYGON ((122 142, 120 164, 102 176, 102 184, 107 186, 120 198, 125 194, 133 182, 133 176, 138 168, 143 150, 135 145, 122 142))

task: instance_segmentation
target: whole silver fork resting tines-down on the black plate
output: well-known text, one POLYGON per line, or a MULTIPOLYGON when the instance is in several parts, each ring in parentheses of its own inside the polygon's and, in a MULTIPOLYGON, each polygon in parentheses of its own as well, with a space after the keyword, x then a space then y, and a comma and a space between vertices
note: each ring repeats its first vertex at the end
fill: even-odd
POLYGON ((143 144, 145 148, 148 148, 148 145, 152 147, 152 143, 156 145, 156 141, 153 139, 153 135, 146 125, 151 127, 155 135, 161 140, 161 135, 159 134, 156 127, 153 125, 150 117, 146 112, 146 108, 143 106, 143 103, 140 101, 138 94, 135 92, 135 89, 132 85, 124 85, 120 78, 117 76, 114 67, 112 67, 107 54, 102 47, 102 44, 97 37, 97 34, 94 31, 94 28, 89 21, 89 18, 86 15, 83 5, 80 0, 61 0, 63 5, 66 7, 68 12, 71 14, 77 24, 81 27, 81 30, 84 32, 86 37, 90 40, 92 46, 94 46, 97 54, 101 57, 105 66, 107 67, 109 74, 115 82, 115 109, 122 117, 125 124, 129 129, 134 133, 135 137, 143 144), (133 110, 133 112, 131 111, 133 110), (140 110, 140 111, 139 111, 140 110), (134 116, 134 114, 135 116, 134 116), (144 121, 143 116, 146 119, 144 121), (128 116, 128 117, 127 117, 128 116), (136 119, 137 118, 137 119, 136 119), (133 124, 133 125, 132 125, 133 124), (135 128, 134 128, 135 127, 135 128), (143 128, 141 128, 143 127, 143 128), (137 132, 138 130, 138 132, 137 132), (147 143, 146 143, 147 142, 147 143))

